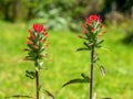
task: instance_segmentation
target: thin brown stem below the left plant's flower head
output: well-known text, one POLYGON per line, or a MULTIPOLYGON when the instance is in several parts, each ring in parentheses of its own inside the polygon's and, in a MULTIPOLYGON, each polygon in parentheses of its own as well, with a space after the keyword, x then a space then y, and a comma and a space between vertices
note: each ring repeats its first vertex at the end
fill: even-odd
POLYGON ((38 59, 35 61, 34 65, 35 65, 35 92, 37 92, 37 99, 39 99, 39 67, 38 67, 38 59))

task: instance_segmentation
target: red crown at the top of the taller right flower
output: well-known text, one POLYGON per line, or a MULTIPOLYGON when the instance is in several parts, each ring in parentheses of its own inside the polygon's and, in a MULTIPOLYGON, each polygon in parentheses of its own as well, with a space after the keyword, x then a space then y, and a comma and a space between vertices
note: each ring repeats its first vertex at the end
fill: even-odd
POLYGON ((91 25, 92 22, 102 22, 100 15, 90 15, 89 18, 86 18, 86 24, 91 25))

